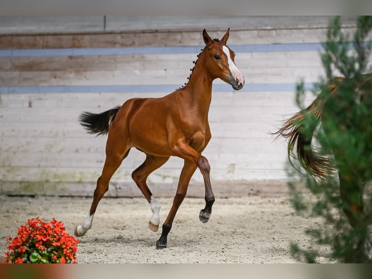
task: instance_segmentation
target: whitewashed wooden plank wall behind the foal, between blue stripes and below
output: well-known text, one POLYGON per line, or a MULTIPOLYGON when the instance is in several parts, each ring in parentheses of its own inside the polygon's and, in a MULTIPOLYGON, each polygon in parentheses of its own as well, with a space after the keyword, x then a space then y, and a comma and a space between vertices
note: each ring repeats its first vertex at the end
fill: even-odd
MULTIPOLYGON (((108 22, 118 22, 120 18, 110 20, 108 22)), ((298 18, 289 21, 294 20, 298 18)), ((228 44, 307 44, 324 39, 325 29, 306 28, 303 24, 300 20, 298 26, 301 28, 297 29, 259 30, 248 30, 244 25, 242 30, 231 30, 228 44)), ((114 28, 110 26, 108 24, 107 28, 114 28)), ((172 45, 203 47, 201 31, 172 33, 171 36, 179 38, 178 42, 172 40, 172 45)), ((223 33, 210 32, 210 35, 221 37, 223 33)), ((129 36, 135 39, 135 35, 129 36)), ((148 36, 155 38, 156 34, 148 36)), ((154 40, 154 45, 163 43, 154 40)), ((181 86, 187 81, 196 54, 0 57, 0 87, 181 86)), ((309 83, 316 81, 322 73, 317 51, 237 52, 236 64, 245 75, 246 88, 250 84, 294 84, 300 76, 309 83)), ((79 114, 82 111, 101 112, 132 97, 164 94, 19 93, 17 90, 1 93, 0 191, 91 195, 103 166, 106 137, 86 134, 77 121, 79 114)), ((297 110, 294 88, 237 92, 230 88, 213 93, 209 117, 212 140, 203 155, 209 159, 211 179, 217 191, 226 185, 230 187, 232 181, 248 185, 253 181, 286 179, 286 144, 273 142, 268 132, 275 130, 274 125, 283 120, 284 115, 297 110)), ((132 149, 114 174, 108 195, 140 195, 131 173, 143 160, 144 155, 132 149)), ((182 160, 171 158, 149 177, 152 190, 167 195, 165 193, 170 189, 168 195, 172 196, 181 168, 182 160)), ((198 170, 191 185, 203 192, 203 178, 198 170)))

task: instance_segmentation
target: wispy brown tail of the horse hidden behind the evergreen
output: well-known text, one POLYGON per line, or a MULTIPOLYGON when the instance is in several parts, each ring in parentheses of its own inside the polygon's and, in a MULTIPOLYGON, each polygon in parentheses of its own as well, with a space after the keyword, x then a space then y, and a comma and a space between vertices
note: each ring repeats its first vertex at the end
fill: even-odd
POLYGON ((272 133, 276 139, 283 137, 288 140, 287 152, 291 165, 296 168, 291 158, 297 158, 304 170, 319 179, 334 171, 329 157, 317 153, 311 144, 314 131, 321 120, 323 100, 318 96, 308 107, 287 119, 282 127, 272 133), (314 121, 308 121, 313 117, 314 121))

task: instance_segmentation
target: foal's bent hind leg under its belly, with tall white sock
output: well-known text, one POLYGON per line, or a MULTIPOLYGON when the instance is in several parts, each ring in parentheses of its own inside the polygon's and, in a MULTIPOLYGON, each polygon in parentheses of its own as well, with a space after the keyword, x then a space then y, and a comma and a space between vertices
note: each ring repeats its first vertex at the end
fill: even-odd
POLYGON ((146 179, 154 170, 160 168, 167 162, 169 157, 156 157, 146 154, 146 159, 133 173, 132 178, 135 184, 141 190, 147 201, 150 203, 152 210, 152 217, 149 221, 149 227, 152 231, 157 231, 159 228, 160 217, 160 204, 157 202, 155 197, 152 195, 149 187, 146 184, 146 179))

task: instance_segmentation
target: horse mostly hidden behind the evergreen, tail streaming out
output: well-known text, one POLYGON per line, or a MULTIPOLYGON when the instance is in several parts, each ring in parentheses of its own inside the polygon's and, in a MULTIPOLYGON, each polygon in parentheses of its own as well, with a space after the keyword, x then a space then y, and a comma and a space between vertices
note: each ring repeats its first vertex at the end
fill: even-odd
MULTIPOLYGON (((289 160, 291 157, 297 158, 306 173, 318 181, 328 179, 329 174, 338 173, 342 210, 350 226, 361 233, 361 238, 354 247, 356 257, 364 259, 362 261, 366 259, 370 261, 372 248, 367 237, 366 225, 370 224, 371 213, 365 210, 363 189, 365 183, 372 180, 372 158, 366 154, 372 150, 372 130, 369 128, 371 116, 368 114, 363 116, 360 108, 362 105, 364 109, 372 110, 372 74, 364 74, 357 79, 354 77, 349 80, 336 77, 328 81, 326 87, 309 106, 285 120, 281 128, 272 134, 276 135, 276 138, 287 139, 289 160), (341 87, 342 83, 355 86, 341 87), (343 93, 340 92, 341 88, 344 90, 343 93), (316 121, 309 124, 309 118, 316 121), (312 146, 314 132, 319 124, 329 143, 334 160, 326 154, 315 151, 312 146), (364 140, 355 141, 355 135, 364 135, 364 140), (350 152, 348 154, 345 151, 347 146, 362 148, 363 158, 354 156, 350 152), (360 164, 361 160, 362 164, 360 164)), ((335 248, 342 248, 339 246, 339 241, 345 241, 340 233, 335 238, 335 248)), ((350 248, 353 249, 352 247, 348 249, 350 248)))

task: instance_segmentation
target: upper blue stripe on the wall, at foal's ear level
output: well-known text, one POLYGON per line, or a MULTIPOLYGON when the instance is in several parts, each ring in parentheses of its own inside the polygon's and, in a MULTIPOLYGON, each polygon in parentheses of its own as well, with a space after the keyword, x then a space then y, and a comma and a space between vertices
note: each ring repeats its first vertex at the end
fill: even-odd
MULTIPOLYGON (((320 43, 307 44, 258 44, 231 45, 234 52, 304 52, 320 51, 320 43)), ((125 47, 125 48, 84 48, 84 49, 40 49, 40 50, 0 50, 0 57, 21 56, 77 56, 77 55, 123 55, 123 54, 179 54, 199 53, 201 46, 182 47, 125 47)))

